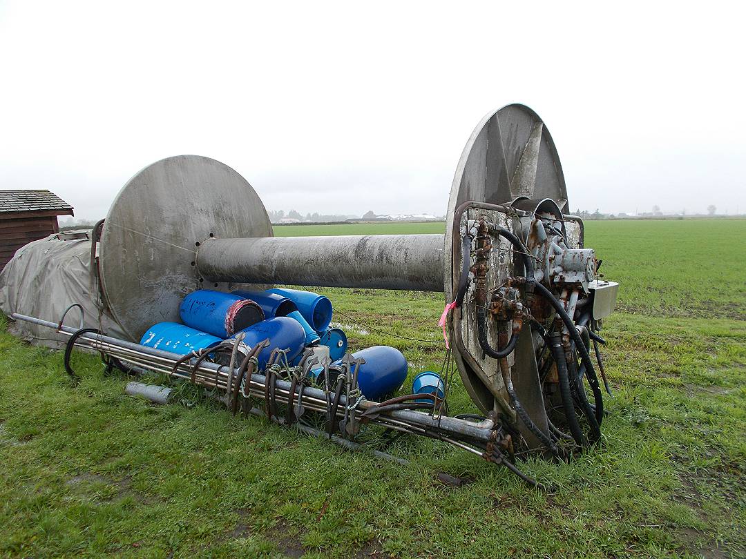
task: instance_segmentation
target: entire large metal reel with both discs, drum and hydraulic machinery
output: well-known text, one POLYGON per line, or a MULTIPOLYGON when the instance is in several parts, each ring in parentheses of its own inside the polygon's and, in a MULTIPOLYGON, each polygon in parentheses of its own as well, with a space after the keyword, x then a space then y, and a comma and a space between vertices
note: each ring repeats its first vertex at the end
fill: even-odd
MULTIPOLYGON (((139 339, 151 323, 175 320, 178 302, 197 288, 285 283, 443 291, 446 303, 457 303, 448 316, 448 338, 471 399, 516 429, 515 444, 552 450, 548 441, 567 440, 558 428, 571 418, 548 413, 562 408, 548 336, 560 333, 573 409, 583 417, 593 411, 600 423, 603 404, 589 347, 577 341, 575 329, 586 327, 587 338, 595 340, 599 319, 613 305, 608 294, 598 315, 589 304, 597 262, 583 247, 582 221, 565 215, 567 207, 551 135, 536 113, 519 104, 490 113, 469 138, 451 186, 445 236, 275 239, 263 203, 236 171, 206 157, 170 157, 132 177, 111 206, 98 248, 101 304, 131 339, 139 339), (479 233, 477 226, 486 230, 479 233), (472 251, 475 243, 480 245, 472 251), (527 273, 530 265, 533 273, 527 273), (483 282, 477 293, 475 282, 483 282), (534 282, 551 297, 541 291, 532 298, 534 282), (477 305, 483 307, 479 315, 476 295, 487 303, 477 305), (513 333, 507 347, 498 340, 506 329, 513 333), (503 358, 485 347, 505 353, 507 363, 501 367, 503 358), (585 379, 595 408, 583 401, 585 379)), ((281 359, 275 356, 272 382, 264 386, 270 417, 276 417, 281 359)), ((336 413, 329 414, 334 426, 336 413)))

